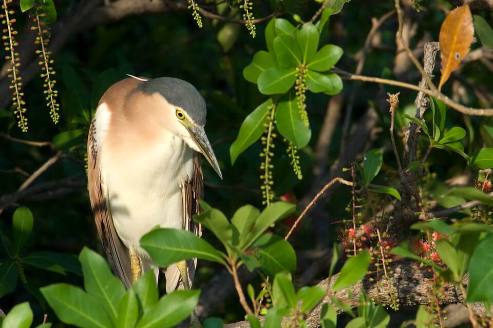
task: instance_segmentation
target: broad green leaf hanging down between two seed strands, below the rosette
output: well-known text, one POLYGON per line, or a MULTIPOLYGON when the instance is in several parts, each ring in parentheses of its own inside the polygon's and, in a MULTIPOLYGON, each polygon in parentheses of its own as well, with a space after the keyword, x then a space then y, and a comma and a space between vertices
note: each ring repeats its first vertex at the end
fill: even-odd
POLYGON ((292 92, 282 97, 277 105, 276 126, 279 133, 298 149, 310 142, 312 131, 301 119, 297 99, 292 92))

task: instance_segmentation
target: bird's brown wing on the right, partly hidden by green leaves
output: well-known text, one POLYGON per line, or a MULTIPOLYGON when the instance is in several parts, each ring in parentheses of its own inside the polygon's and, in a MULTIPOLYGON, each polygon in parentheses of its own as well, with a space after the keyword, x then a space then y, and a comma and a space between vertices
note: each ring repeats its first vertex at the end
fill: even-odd
MULTIPOLYGON (((202 236, 201 224, 192 219, 194 214, 202 212, 202 208, 198 202, 203 199, 204 185, 202 166, 200 164, 199 154, 194 156, 194 176, 192 179, 183 182, 181 186, 181 198, 183 208, 183 230, 193 232, 198 236, 202 236)), ((195 276, 195 268, 197 267, 197 259, 187 261, 188 264, 188 282, 192 286, 195 276)), ((170 265, 165 272, 166 275, 166 293, 173 292, 176 289, 183 288, 183 282, 180 278, 180 272, 175 264, 170 265)))

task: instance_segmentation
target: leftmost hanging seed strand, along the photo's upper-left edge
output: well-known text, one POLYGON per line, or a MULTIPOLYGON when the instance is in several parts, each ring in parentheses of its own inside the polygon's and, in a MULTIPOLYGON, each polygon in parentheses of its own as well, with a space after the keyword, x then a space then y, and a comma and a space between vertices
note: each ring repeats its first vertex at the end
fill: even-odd
POLYGON ((2 19, 2 25, 5 28, 2 30, 2 39, 4 40, 5 50, 9 52, 5 56, 5 60, 10 61, 10 68, 8 68, 8 77, 11 78, 10 89, 13 90, 13 106, 14 115, 17 117, 17 125, 21 128, 22 132, 27 132, 27 117, 25 117, 26 108, 25 101, 22 99, 24 92, 22 92, 22 77, 19 67, 21 66, 21 59, 19 58, 19 53, 15 51, 15 47, 19 44, 16 42, 14 35, 17 31, 14 29, 13 24, 15 23, 15 18, 10 16, 15 13, 13 9, 8 8, 8 4, 12 3, 12 0, 3 0, 2 9, 4 12, 0 14, 0 19, 2 19))

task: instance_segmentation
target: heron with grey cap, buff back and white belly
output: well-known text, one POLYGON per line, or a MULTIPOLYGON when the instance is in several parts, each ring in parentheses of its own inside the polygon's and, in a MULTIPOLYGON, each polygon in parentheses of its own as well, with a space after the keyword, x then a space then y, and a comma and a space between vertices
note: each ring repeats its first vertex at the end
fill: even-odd
MULTIPOLYGON (((222 179, 204 126, 206 104, 175 77, 129 75, 102 95, 87 138, 87 176, 94 222, 110 267, 126 288, 159 266, 140 247, 156 227, 202 228, 202 154, 222 179)), ((165 268, 166 293, 192 286, 197 259, 165 268)))

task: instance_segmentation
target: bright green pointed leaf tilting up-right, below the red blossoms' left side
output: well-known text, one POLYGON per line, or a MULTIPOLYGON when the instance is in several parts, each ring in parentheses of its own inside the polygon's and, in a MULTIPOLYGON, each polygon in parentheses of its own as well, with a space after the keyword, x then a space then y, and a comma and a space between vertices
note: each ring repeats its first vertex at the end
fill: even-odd
POLYGON ((349 258, 340 270, 339 276, 332 286, 332 291, 340 291, 363 279, 368 265, 370 265, 370 253, 368 253, 368 250, 349 258))

